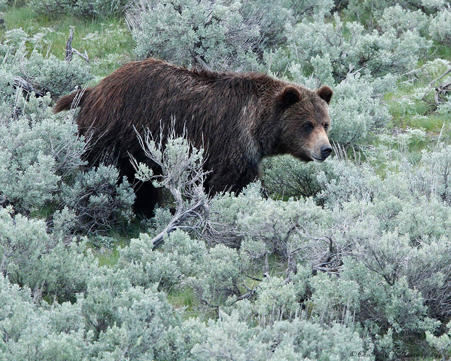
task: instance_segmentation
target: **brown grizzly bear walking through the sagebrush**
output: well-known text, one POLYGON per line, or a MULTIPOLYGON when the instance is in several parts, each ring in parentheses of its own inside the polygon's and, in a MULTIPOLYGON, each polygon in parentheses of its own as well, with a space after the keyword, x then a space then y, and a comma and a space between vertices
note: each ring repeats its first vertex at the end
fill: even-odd
MULTIPOLYGON (((177 134, 185 127, 191 144, 205 149, 205 170, 211 170, 205 188, 238 193, 259 175, 263 157, 288 153, 323 161, 330 155, 331 97, 328 86, 312 91, 266 74, 187 69, 149 58, 125 64, 83 93, 63 96, 54 112, 78 106, 79 133, 91 143, 90 165, 108 152, 130 182, 129 153, 158 172, 134 128, 157 138, 174 121, 177 134)), ((151 182, 134 183, 135 211, 149 216, 159 193, 151 182)))

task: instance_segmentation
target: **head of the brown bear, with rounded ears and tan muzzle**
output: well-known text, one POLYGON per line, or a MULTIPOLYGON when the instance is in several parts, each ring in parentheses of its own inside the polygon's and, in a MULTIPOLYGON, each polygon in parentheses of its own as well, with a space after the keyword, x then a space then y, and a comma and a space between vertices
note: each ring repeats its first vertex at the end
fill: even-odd
POLYGON ((332 89, 316 91, 286 85, 277 95, 282 126, 283 152, 304 161, 324 161, 332 152, 327 136, 330 127, 328 104, 332 89))

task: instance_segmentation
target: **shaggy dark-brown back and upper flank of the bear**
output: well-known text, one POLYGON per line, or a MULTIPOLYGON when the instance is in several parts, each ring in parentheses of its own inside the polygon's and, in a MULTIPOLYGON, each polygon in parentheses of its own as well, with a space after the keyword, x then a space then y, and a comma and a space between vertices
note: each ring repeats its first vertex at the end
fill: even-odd
POLYGON ((167 133, 172 119, 176 133, 185 127, 196 147, 205 146, 208 134, 209 146, 217 148, 209 151, 217 153, 240 136, 238 131, 246 131, 270 80, 264 74, 190 70, 155 59, 132 62, 90 91, 77 123, 81 134, 101 137, 102 148, 114 148, 119 157, 142 153, 134 128, 141 135, 148 128, 157 138, 161 128, 167 133))

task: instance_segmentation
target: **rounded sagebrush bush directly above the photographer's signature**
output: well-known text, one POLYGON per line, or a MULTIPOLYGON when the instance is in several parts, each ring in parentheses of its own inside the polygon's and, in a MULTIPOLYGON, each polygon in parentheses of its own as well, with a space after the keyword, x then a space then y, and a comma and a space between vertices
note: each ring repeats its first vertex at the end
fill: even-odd
POLYGON ((426 266, 427 272, 431 272, 430 282, 420 274, 425 264, 417 260, 432 249, 434 255, 429 256, 441 258, 441 251, 435 247, 441 244, 446 248, 446 243, 438 241, 433 248, 427 245, 412 248, 405 236, 386 233, 375 237, 374 231, 368 234, 368 225, 360 227, 350 231, 361 240, 356 244, 355 256, 343 258, 340 277, 323 274, 310 279, 315 290, 314 314, 345 324, 360 320, 379 336, 391 328, 398 346, 405 346, 405 334, 434 331, 440 322, 432 318, 438 315, 433 311, 435 307, 430 308, 435 303, 431 303, 430 291, 433 289, 435 294, 442 290, 441 274, 449 272, 445 266, 449 260, 426 266))

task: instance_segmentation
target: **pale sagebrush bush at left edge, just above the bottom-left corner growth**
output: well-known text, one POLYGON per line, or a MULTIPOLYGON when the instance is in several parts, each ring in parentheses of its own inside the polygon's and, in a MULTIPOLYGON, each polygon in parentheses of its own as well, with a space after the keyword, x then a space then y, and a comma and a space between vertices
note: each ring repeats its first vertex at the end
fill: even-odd
POLYGON ((89 268, 96 262, 86 243, 62 242, 46 233, 46 224, 41 220, 29 220, 18 214, 14 218, 12 209, 0 209, 0 254, 2 254, 3 276, 33 290, 35 302, 43 296, 73 299, 76 292, 86 289, 89 268), (85 254, 84 254, 85 253, 85 254))

